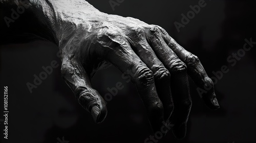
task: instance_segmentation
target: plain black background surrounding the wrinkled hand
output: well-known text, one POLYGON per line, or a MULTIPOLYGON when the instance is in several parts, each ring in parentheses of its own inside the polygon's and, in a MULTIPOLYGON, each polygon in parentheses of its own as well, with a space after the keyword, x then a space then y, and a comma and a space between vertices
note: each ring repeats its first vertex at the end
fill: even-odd
MULTIPOLYGON (((209 77, 223 65, 229 67, 229 72, 215 85, 221 108, 211 111, 205 107, 196 86, 190 82, 193 107, 186 137, 177 140, 169 132, 159 142, 256 142, 255 47, 236 65, 227 62, 228 56, 243 48, 244 39, 256 41, 255 1, 207 0, 207 5, 180 32, 174 22, 180 22, 181 14, 190 11, 189 6, 197 5, 198 1, 125 0, 114 11, 109 1, 88 2, 102 12, 135 17, 163 27, 200 58, 209 77)), ((56 143, 57 138, 62 137, 70 143, 144 142, 151 133, 145 109, 135 86, 126 83, 113 66, 99 70, 92 81, 101 95, 108 93, 107 88, 115 87, 117 82, 124 85, 108 102, 108 116, 101 124, 95 124, 91 115, 77 103, 60 76, 60 66, 29 92, 26 83, 33 83, 33 75, 44 71, 42 66, 50 65, 53 60, 61 64, 57 51, 56 45, 46 41, 1 45, 1 94, 4 86, 8 86, 10 111, 9 139, 2 137, 1 123, 1 142, 56 143)))

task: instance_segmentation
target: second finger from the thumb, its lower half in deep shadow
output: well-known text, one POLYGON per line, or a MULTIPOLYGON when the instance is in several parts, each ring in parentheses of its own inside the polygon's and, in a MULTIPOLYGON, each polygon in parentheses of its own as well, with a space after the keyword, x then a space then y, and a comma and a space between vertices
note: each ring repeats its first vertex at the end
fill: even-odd
POLYGON ((158 97, 163 103, 164 120, 167 121, 174 109, 172 92, 170 91, 170 73, 148 44, 142 30, 137 28, 136 32, 136 36, 132 38, 138 42, 132 48, 146 66, 153 71, 158 97))

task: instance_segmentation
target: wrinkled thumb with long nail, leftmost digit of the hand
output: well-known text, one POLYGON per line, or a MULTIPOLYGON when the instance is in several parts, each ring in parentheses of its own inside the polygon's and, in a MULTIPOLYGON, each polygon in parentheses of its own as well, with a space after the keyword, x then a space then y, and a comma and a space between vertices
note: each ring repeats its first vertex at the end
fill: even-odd
POLYGON ((73 90, 78 103, 90 112, 96 123, 104 121, 107 110, 104 99, 97 90, 92 88, 91 80, 86 70, 74 59, 63 58, 61 76, 73 90))

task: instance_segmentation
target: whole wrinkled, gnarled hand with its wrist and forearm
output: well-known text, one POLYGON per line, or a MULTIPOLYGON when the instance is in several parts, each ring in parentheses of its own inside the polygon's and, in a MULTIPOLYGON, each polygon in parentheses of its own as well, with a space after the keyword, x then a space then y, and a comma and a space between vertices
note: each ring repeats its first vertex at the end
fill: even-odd
POLYGON ((2 5, 29 6, 35 26, 61 53, 61 74, 79 104, 101 123, 107 109, 91 78, 101 67, 115 65, 133 71, 153 131, 163 121, 183 138, 191 109, 188 75, 202 89, 205 104, 218 109, 214 84, 197 56, 183 49, 159 26, 138 19, 105 14, 83 0, 0 1, 2 5))

